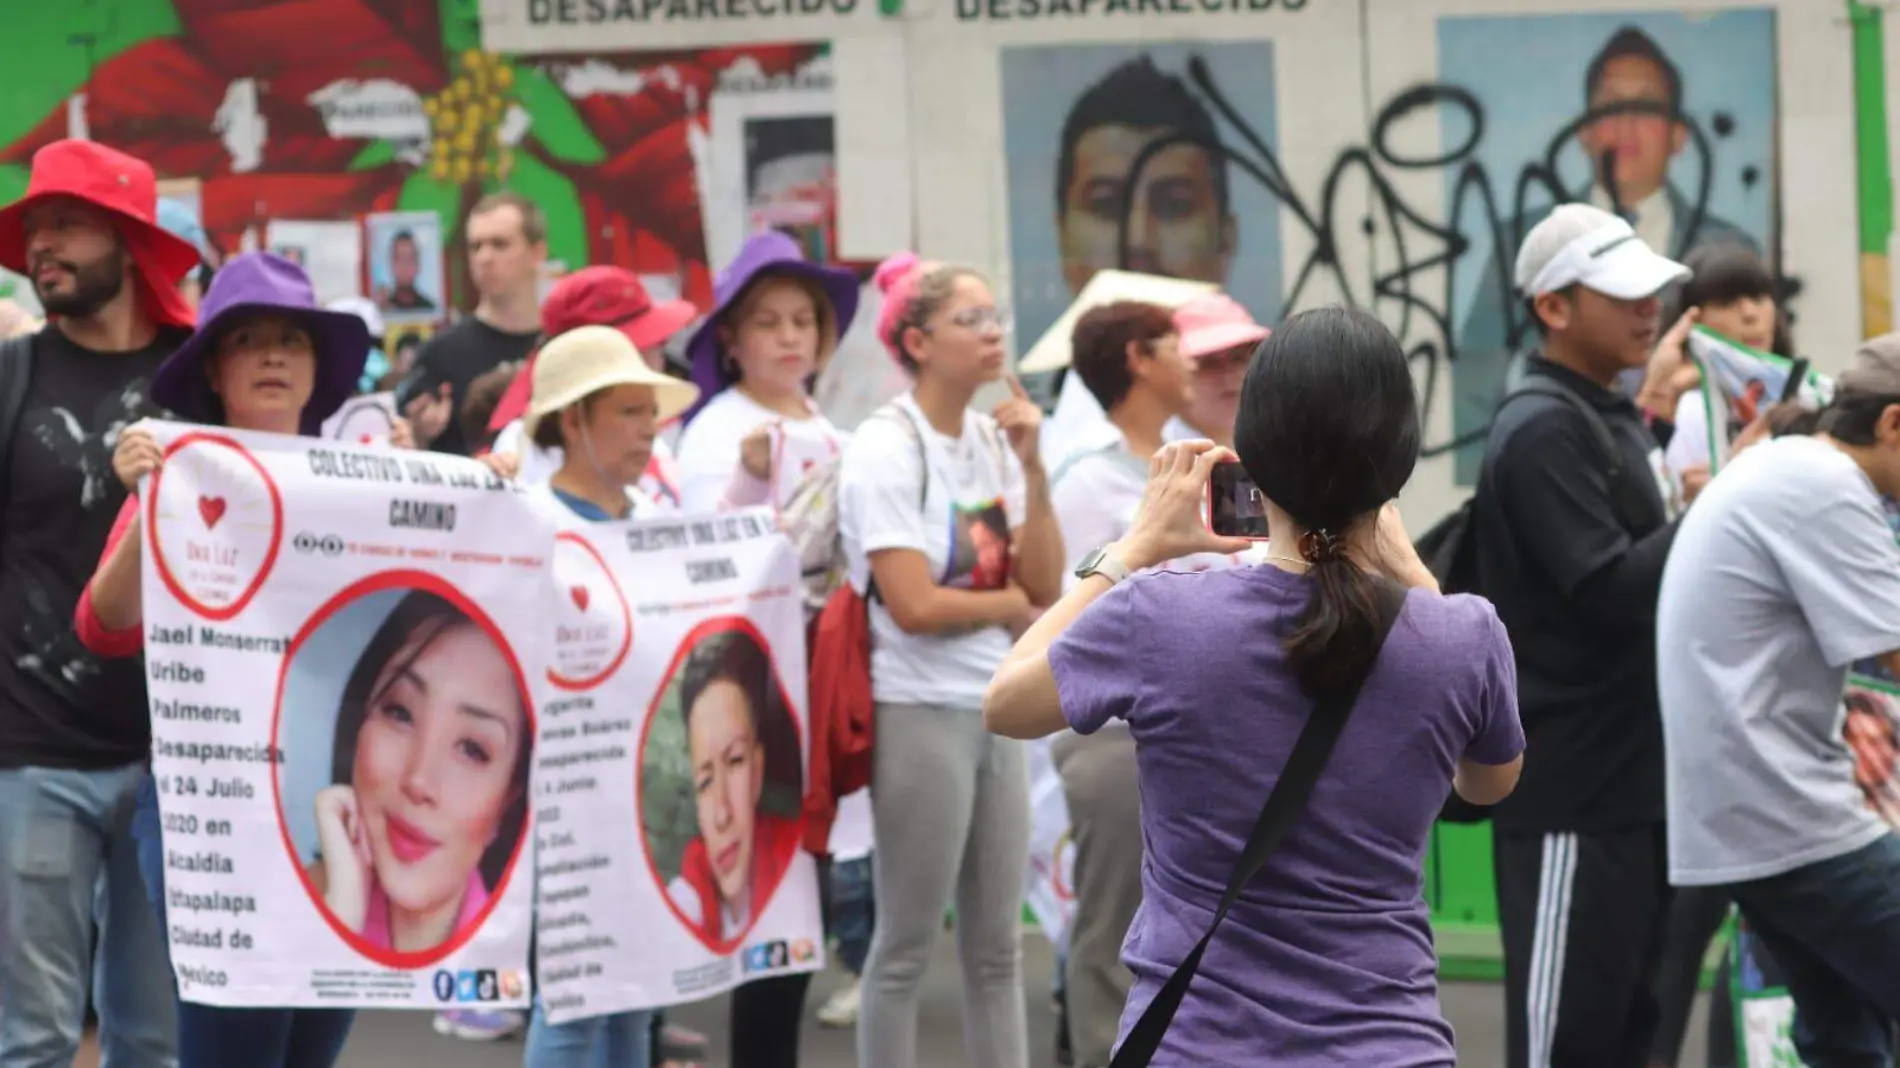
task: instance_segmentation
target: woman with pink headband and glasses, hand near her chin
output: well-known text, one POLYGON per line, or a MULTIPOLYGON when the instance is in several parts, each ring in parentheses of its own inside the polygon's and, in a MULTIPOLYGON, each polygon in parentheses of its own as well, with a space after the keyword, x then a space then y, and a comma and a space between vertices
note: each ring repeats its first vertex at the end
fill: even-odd
POLYGON ((982 728, 1011 635, 1062 589, 1062 536, 1037 448, 1041 410, 1007 376, 1007 315, 967 268, 899 255, 878 268, 878 338, 916 380, 864 420, 838 473, 851 585, 870 601, 876 701, 872 855, 859 1064, 914 1068, 918 1000, 944 910, 958 914, 967 1060, 1028 1068, 1022 747, 982 728), (977 391, 1005 378, 990 416, 977 391))

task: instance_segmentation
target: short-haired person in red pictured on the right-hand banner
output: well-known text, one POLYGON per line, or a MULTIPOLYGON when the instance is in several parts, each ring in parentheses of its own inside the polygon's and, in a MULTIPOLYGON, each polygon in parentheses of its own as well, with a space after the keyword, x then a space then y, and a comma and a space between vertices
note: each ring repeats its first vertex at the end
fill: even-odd
POLYGON ((676 707, 694 832, 667 899, 701 943, 732 952, 798 851, 798 735, 771 658, 745 625, 697 642, 678 675, 676 707), (788 811, 770 804, 773 787, 790 787, 788 811))

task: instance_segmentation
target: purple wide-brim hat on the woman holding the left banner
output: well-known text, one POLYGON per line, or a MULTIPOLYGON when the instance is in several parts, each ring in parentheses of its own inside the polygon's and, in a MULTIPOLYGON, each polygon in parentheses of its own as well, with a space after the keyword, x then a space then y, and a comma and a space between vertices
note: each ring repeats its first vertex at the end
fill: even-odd
POLYGON ((211 289, 198 306, 198 329, 158 365, 152 399, 182 418, 211 420, 215 395, 205 355, 234 319, 256 314, 283 315, 310 334, 317 378, 304 405, 302 429, 317 433, 323 420, 355 395, 369 363, 369 327, 350 312, 319 308, 304 268, 270 253, 234 257, 211 276, 211 289))

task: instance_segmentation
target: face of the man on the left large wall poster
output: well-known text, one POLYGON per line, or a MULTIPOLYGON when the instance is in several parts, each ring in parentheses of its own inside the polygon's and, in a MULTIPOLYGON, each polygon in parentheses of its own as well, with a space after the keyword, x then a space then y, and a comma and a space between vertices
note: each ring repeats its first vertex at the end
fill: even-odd
POLYGON ((1195 281, 1227 281, 1233 219, 1222 213, 1214 160, 1199 144, 1170 144, 1142 163, 1153 141, 1176 135, 1165 127, 1098 125, 1075 141, 1075 169, 1058 219, 1062 277, 1081 293, 1098 270, 1125 266, 1195 281), (1132 179, 1132 188, 1129 182, 1132 179), (1123 200, 1127 200, 1129 258, 1117 262, 1123 200))

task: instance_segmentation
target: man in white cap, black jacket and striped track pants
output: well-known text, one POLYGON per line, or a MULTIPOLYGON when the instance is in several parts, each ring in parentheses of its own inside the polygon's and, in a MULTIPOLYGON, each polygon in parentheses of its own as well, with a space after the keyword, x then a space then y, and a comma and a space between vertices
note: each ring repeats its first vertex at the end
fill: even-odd
POLYGON ((1583 405, 1503 405, 1472 509, 1528 739, 1524 777, 1493 813, 1510 1068, 1642 1068, 1655 1030, 1668 910, 1655 606, 1676 524, 1659 443, 1615 382, 1672 348, 1657 346, 1659 293, 1687 274, 1583 203, 1518 251, 1543 336, 1528 378, 1583 405))

